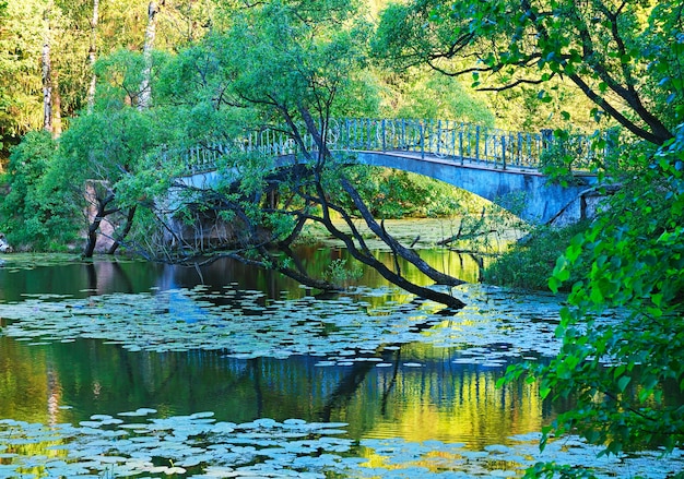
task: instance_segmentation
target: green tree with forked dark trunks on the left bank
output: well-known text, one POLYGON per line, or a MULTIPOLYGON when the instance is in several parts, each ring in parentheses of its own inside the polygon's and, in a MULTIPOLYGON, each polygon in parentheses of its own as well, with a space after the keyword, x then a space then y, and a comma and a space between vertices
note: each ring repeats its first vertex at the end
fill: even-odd
MULTIPOLYGON (((95 251, 103 220, 108 220, 115 229, 121 228, 120 235, 111 238, 109 252, 114 253, 128 235, 139 203, 146 194, 138 184, 155 171, 157 161, 150 157, 168 140, 165 135, 169 130, 157 111, 137 108, 133 103, 140 96, 143 64, 142 56, 134 52, 119 52, 99 60, 96 74, 102 82, 96 108, 72 120, 51 165, 73 203, 83 204, 83 189, 86 189, 84 207, 92 209, 83 251, 86 258, 95 251), (114 219, 117 214, 122 218, 114 219)), ((160 175, 149 181, 150 191, 166 184, 160 175)))

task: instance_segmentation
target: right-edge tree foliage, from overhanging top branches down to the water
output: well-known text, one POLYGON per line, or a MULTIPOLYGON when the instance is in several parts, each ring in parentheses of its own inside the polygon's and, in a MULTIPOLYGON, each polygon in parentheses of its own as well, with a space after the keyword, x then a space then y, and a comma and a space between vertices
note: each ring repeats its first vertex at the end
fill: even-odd
MULTIPOLYGON (((542 446, 566 432, 604 454, 684 444, 682 15, 681 2, 667 0, 414 0, 382 16, 376 41, 386 61, 472 75, 480 89, 533 86, 542 101, 552 82, 565 82, 594 104, 594 118, 628 132, 620 161, 602 165, 620 190, 550 279, 557 290, 580 278, 568 285, 559 355, 507 372, 530 373, 544 397, 573 399, 542 446)), ((529 475, 555 470, 540 464, 529 475)))

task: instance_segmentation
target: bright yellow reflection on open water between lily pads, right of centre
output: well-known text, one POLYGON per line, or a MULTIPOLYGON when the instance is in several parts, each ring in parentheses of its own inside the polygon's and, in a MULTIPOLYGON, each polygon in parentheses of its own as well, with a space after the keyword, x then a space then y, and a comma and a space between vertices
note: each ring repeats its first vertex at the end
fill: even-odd
POLYGON ((549 410, 536 385, 521 382, 496 388, 504 368, 456 364, 453 354, 424 345, 402 347, 394 358, 397 367, 365 384, 337 419, 362 428, 365 436, 436 439, 474 448, 539 430, 549 410), (416 366, 405 366, 412 361, 416 366))

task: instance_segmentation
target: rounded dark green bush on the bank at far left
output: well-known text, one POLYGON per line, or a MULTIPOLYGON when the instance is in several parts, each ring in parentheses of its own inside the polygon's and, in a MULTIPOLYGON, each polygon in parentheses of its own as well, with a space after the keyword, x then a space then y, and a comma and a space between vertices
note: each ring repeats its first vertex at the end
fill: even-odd
POLYGON ((56 154, 57 145, 46 132, 28 133, 12 152, 10 192, 0 203, 0 220, 15 249, 63 249, 78 235, 78 207, 48 175, 56 154))

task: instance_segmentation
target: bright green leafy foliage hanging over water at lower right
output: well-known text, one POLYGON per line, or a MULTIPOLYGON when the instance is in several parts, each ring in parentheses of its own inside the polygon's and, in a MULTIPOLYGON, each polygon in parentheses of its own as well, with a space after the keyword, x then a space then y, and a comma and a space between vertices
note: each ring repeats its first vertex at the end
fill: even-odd
POLYGON ((556 262, 551 289, 574 283, 556 331, 563 347, 527 370, 543 396, 575 407, 542 445, 570 431, 603 454, 684 444, 684 127, 676 133, 556 262))

